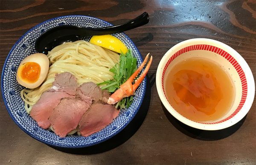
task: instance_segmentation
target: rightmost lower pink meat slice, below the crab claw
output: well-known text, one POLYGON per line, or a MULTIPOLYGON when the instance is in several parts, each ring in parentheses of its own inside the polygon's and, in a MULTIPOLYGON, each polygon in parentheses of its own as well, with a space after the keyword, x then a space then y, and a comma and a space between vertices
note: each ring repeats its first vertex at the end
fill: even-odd
POLYGON ((87 137, 108 126, 119 115, 112 105, 93 103, 79 122, 81 135, 87 137))

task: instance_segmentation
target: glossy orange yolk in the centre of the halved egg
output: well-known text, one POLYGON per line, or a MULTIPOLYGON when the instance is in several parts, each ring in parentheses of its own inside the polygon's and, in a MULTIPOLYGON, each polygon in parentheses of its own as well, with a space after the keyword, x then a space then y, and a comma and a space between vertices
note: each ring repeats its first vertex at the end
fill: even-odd
POLYGON ((29 83, 34 83, 38 81, 38 78, 40 76, 40 71, 41 71, 41 67, 38 63, 26 62, 25 64, 23 64, 21 68, 20 76, 23 80, 29 83))

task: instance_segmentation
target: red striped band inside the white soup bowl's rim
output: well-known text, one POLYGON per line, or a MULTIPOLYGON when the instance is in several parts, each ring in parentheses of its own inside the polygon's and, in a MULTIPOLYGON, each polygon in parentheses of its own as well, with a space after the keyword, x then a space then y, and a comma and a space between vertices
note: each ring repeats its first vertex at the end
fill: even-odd
MULTIPOLYGON (((240 80, 241 80, 241 84, 242 84, 242 96, 241 96, 241 100, 239 105, 237 106, 236 110, 228 117, 226 117, 223 120, 217 121, 217 122, 212 122, 212 123, 203 123, 203 122, 197 122, 197 123, 202 123, 202 124, 217 124, 217 123, 222 123, 224 121, 227 121, 229 119, 231 119, 232 117, 234 117, 243 107, 244 102, 246 100, 247 97, 247 80, 244 74, 244 71, 242 70, 241 66, 239 65, 239 63, 236 61, 236 59, 234 59, 229 53, 227 53, 226 51, 217 48, 215 46, 212 45, 191 45, 188 46, 186 48, 180 49, 178 50, 176 53, 174 53, 169 60, 166 62, 164 68, 163 68, 163 73, 162 73, 162 88, 163 88, 163 93, 166 97, 166 93, 164 90, 164 86, 163 86, 163 80, 164 80, 164 76, 166 73, 166 69, 168 68, 169 64, 177 57, 180 56, 180 54, 192 51, 192 50, 208 50, 214 53, 218 53, 219 55, 223 56, 225 59, 227 59, 232 65, 233 67, 236 69, 237 73, 239 74, 240 80)), ((167 97, 166 97, 167 99, 167 97)), ((167 99, 168 101, 168 99, 167 99)), ((169 102, 169 101, 168 101, 169 102)), ((169 104, 171 104, 169 102, 169 104)), ((196 121, 195 121, 196 122, 196 121)))

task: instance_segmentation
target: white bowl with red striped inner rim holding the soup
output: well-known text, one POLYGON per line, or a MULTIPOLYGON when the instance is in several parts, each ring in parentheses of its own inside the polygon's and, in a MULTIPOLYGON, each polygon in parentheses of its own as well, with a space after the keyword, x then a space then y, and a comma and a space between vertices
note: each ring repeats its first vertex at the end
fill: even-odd
POLYGON ((250 110, 255 94, 253 74, 243 57, 222 42, 204 38, 189 39, 168 50, 157 67, 156 85, 163 105, 177 120, 203 130, 225 129, 239 122, 250 110), (210 122, 189 120, 180 115, 167 100, 164 89, 166 73, 171 66, 192 57, 202 57, 217 62, 233 81, 235 87, 233 105, 228 113, 218 120, 210 122))

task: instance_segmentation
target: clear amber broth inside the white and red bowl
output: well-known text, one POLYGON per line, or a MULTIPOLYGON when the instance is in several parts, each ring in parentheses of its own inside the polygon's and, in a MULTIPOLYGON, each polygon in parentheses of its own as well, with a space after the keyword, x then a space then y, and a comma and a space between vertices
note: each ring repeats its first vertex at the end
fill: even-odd
POLYGON ((226 71, 204 58, 190 58, 175 64, 166 75, 164 88, 172 107, 180 115, 198 122, 224 117, 235 95, 226 71))

